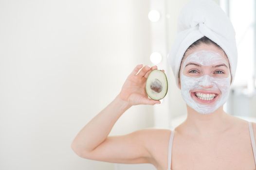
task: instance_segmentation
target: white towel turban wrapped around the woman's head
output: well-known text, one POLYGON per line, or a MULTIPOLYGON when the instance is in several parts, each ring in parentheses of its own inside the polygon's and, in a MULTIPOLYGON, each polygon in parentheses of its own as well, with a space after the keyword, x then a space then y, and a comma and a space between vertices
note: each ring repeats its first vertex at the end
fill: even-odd
POLYGON ((179 86, 179 69, 184 52, 201 37, 206 36, 226 53, 234 81, 238 52, 235 30, 224 11, 212 0, 191 0, 182 9, 178 19, 178 34, 168 53, 176 84, 179 86))

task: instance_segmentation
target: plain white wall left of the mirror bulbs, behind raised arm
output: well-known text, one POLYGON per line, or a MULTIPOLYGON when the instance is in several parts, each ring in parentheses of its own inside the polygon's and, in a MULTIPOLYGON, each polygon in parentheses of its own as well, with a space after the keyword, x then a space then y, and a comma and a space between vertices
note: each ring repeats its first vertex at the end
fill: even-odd
MULTIPOLYGON (((0 1, 0 170, 113 170, 71 150, 78 131, 150 65, 148 0, 0 1)), ((153 126, 135 106, 111 135, 153 126)))

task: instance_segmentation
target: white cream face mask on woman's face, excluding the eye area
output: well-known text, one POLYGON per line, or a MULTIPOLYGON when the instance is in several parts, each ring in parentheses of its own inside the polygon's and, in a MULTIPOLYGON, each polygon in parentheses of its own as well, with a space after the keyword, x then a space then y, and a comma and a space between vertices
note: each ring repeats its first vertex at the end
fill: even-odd
POLYGON ((183 100, 194 110, 201 114, 213 113, 223 105, 229 95, 231 76, 212 77, 201 74, 200 76, 188 77, 183 74, 188 63, 196 63, 201 66, 216 66, 228 62, 214 51, 197 51, 190 54, 184 61, 181 69, 181 92, 183 100), (213 95, 211 95, 213 94, 213 95), (215 96, 215 94, 217 94, 215 96))

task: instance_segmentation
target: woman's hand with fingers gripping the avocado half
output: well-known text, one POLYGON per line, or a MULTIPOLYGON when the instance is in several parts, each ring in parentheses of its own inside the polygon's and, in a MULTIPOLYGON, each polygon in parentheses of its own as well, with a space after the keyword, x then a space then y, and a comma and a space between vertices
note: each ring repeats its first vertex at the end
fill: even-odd
MULTIPOLYGON (((149 99, 146 94, 146 79, 149 75, 149 73, 157 69, 157 66, 148 67, 145 66, 142 68, 141 65, 137 65, 133 71, 130 73, 128 78, 126 79, 124 85, 122 86, 121 92, 118 94, 118 97, 128 102, 130 106, 132 105, 138 105, 138 104, 160 104, 160 101, 155 101, 152 99, 149 99), (141 69, 142 68, 142 69, 141 69), (140 70, 141 69, 141 70, 140 70), (138 71, 140 72, 138 73, 138 71)), ((162 70, 164 71, 164 70, 162 70)))

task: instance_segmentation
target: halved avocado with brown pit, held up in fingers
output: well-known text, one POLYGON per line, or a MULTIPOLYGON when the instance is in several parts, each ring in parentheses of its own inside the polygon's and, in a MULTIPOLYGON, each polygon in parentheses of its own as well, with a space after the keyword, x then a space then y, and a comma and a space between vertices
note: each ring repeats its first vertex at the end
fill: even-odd
POLYGON ((165 73, 154 69, 146 79, 146 93, 152 100, 158 101, 165 97, 168 91, 168 82, 165 73))

